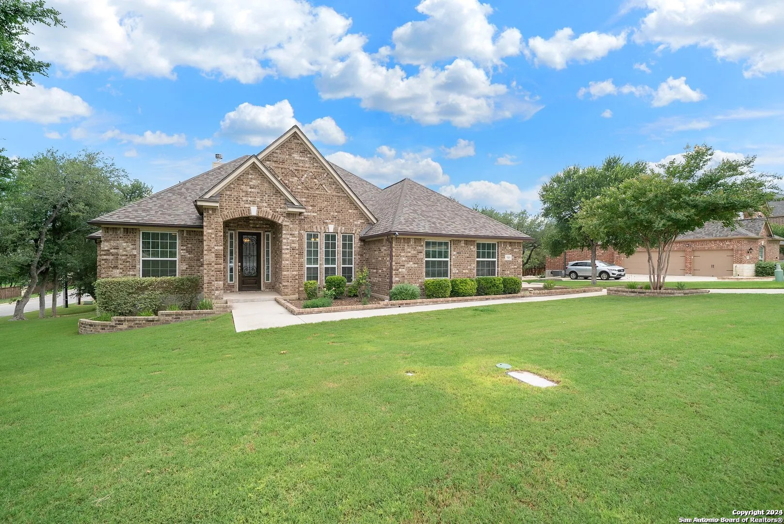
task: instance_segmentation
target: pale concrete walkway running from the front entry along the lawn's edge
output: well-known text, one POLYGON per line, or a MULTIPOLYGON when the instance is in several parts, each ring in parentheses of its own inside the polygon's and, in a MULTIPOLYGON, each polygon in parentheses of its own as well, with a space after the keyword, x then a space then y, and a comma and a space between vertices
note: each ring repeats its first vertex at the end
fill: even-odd
POLYGON ((458 307, 492 306, 493 304, 518 304, 522 302, 543 302, 546 300, 568 300, 582 297, 601 297, 604 289, 596 293, 579 293, 574 295, 556 295, 554 297, 522 297, 500 298, 498 300, 474 300, 471 302, 457 302, 453 304, 430 304, 427 306, 383 307, 381 309, 365 309, 361 311, 340 311, 336 313, 314 313, 311 315, 292 315, 274 300, 261 302, 238 302, 232 304, 234 315, 234 329, 251 331, 252 329, 267 329, 270 327, 292 326, 295 324, 311 324, 314 322, 328 322, 331 320, 345 320, 347 318, 368 318, 386 315, 403 315, 405 313, 418 313, 421 311, 439 311, 442 309, 456 309, 458 307))

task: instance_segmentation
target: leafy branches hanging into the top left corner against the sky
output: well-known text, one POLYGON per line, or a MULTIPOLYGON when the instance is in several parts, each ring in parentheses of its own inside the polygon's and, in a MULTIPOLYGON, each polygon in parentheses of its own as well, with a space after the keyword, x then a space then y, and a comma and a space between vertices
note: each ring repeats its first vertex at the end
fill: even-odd
POLYGON ((0 95, 16 93, 16 86, 33 86, 35 74, 47 76, 50 64, 36 60, 38 48, 24 39, 34 24, 64 26, 60 12, 43 0, 0 0, 0 95))

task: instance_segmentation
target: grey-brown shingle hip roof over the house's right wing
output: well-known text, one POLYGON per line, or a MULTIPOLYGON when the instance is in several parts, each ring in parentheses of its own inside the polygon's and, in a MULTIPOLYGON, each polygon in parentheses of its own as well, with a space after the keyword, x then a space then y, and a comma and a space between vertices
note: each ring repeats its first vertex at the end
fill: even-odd
POLYGON ((531 239, 410 178, 384 189, 376 198, 373 213, 379 221, 362 232, 363 238, 400 233, 520 241, 531 239))

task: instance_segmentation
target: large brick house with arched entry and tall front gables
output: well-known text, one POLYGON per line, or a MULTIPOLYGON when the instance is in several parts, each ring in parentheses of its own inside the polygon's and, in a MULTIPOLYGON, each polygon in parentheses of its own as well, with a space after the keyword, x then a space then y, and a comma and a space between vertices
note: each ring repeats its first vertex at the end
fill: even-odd
POLYGON ((98 277, 199 275, 204 295, 303 281, 352 281, 373 293, 425 278, 522 273, 528 235, 405 179, 381 189, 327 162, 294 126, 245 155, 90 224, 98 277))

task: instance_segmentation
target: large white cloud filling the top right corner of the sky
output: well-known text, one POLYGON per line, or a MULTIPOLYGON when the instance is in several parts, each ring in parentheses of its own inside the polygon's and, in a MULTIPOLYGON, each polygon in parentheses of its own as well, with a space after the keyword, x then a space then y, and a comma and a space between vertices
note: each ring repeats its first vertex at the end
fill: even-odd
POLYGON ((744 64, 746 77, 784 71, 781 0, 638 0, 648 13, 633 38, 676 51, 711 49, 720 60, 744 64))

